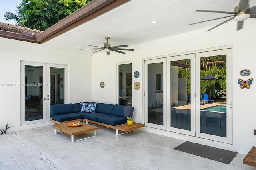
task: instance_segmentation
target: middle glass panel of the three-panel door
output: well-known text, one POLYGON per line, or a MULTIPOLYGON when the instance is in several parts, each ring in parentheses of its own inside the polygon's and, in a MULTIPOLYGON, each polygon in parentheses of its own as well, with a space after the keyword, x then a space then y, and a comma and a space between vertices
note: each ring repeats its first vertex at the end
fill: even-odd
POLYGON ((194 55, 169 57, 168 130, 194 135, 194 55))

